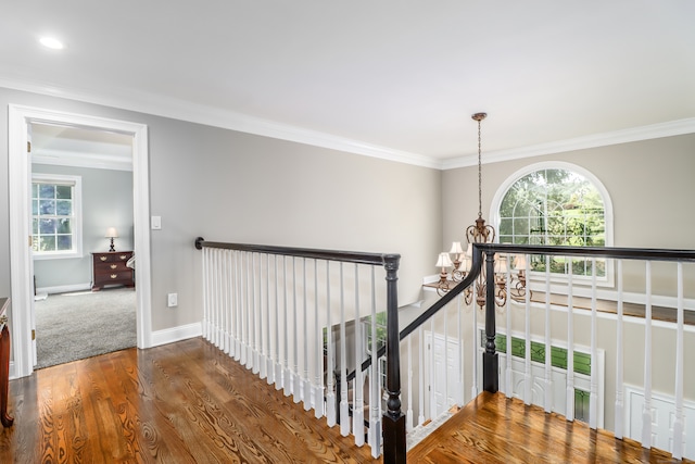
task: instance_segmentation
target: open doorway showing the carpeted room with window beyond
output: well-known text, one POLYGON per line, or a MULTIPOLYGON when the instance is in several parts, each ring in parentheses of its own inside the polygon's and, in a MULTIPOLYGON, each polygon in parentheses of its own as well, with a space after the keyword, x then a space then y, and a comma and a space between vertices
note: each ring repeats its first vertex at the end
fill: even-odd
POLYGON ((29 134, 35 368, 135 347, 132 271, 123 262, 134 250, 132 136, 42 123, 29 134), (99 256, 123 260, 97 267, 99 256), (106 287, 92 292, 97 280, 106 287))

